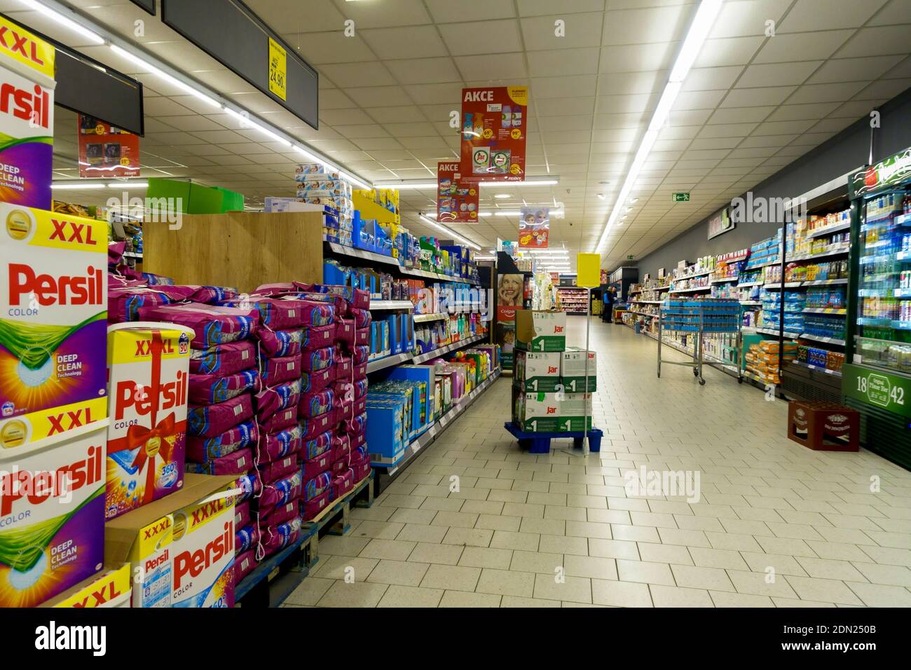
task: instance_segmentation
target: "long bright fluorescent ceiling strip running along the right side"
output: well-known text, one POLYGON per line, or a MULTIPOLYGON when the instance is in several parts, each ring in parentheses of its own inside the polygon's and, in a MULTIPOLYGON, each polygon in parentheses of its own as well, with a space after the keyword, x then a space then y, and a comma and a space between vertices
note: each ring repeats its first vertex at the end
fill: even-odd
POLYGON ((623 211, 623 203, 630 197, 630 192, 636 184, 642 166, 648 159, 651 148, 658 139, 660 129, 668 119, 670 108, 673 107, 677 94, 680 93, 683 80, 690 72, 693 61, 699 55, 702 44, 705 42, 711 26, 722 9, 722 2, 723 0, 701 0, 699 7, 696 9, 696 15, 693 17, 687 35, 683 39, 683 46, 681 46, 680 53, 677 55, 674 66, 670 70, 668 84, 661 93, 658 107, 655 108, 655 113, 651 117, 649 129, 642 136, 639 149, 636 151, 636 156, 633 158, 630 170, 627 172, 626 180, 623 181, 623 187, 620 189, 617 202, 610 212, 608 221, 604 224, 604 231, 601 232, 598 245, 595 247, 596 253, 600 253, 608 242, 610 229, 618 222, 620 213, 623 211))

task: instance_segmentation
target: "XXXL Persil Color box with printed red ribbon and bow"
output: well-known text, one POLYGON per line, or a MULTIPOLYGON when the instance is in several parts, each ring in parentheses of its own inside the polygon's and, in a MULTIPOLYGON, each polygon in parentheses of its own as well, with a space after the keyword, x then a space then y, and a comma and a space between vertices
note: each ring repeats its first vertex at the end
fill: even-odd
POLYGON ((172 324, 108 328, 107 519, 183 483, 192 337, 172 324))

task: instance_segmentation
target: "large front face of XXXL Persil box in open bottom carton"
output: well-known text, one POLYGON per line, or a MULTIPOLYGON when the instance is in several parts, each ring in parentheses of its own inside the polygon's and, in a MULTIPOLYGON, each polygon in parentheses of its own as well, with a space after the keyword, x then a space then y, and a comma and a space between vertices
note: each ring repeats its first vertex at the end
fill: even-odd
POLYGON ((174 515, 172 607, 234 606, 234 493, 213 493, 174 515))

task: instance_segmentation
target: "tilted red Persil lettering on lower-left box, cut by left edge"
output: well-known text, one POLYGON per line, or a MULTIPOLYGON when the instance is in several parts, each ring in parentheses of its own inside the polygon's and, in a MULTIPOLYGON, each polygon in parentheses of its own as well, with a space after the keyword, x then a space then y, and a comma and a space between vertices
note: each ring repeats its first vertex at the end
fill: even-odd
POLYGON ((102 448, 92 445, 85 458, 56 470, 0 470, 0 517, 12 513, 18 500, 26 500, 28 506, 40 505, 51 498, 69 497, 101 481, 102 459, 102 448))

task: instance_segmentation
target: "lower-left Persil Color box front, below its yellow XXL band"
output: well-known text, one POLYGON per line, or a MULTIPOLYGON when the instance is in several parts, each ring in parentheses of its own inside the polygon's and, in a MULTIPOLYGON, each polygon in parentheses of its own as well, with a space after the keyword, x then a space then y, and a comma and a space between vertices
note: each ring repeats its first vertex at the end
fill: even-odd
POLYGON ((106 428, 0 438, 0 607, 34 607, 101 570, 106 428))

